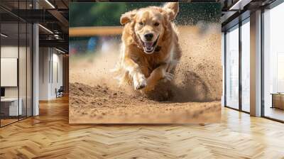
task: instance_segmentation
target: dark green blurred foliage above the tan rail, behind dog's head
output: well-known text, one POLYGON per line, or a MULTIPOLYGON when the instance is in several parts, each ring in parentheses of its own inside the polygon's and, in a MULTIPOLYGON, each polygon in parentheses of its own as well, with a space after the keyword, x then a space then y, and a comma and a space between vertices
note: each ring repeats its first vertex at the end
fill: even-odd
MULTIPOLYGON (((162 6, 159 2, 71 2, 70 27, 77 26, 120 26, 122 13, 145 6, 162 6)), ((219 23, 219 3, 180 2, 179 25, 195 24, 199 21, 219 23)))

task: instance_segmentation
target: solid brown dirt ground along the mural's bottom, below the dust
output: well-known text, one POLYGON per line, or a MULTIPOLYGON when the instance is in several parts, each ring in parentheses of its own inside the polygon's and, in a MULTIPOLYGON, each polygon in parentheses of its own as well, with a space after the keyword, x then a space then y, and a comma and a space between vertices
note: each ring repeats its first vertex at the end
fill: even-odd
POLYGON ((157 102, 107 85, 70 84, 70 123, 209 123, 218 121, 219 102, 157 102))

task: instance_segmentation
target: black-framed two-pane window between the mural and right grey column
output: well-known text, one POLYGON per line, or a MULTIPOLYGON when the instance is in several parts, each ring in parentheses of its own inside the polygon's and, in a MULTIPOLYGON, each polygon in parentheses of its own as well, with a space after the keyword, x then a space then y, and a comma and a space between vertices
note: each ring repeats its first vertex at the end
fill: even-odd
POLYGON ((225 106, 250 111, 250 19, 224 33, 225 106))

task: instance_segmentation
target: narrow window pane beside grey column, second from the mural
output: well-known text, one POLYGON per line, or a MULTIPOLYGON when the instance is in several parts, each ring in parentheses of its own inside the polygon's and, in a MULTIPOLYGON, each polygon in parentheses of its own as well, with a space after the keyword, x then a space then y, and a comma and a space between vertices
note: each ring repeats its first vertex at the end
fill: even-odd
POLYGON ((241 26, 241 109, 250 111, 250 25, 249 19, 241 26))

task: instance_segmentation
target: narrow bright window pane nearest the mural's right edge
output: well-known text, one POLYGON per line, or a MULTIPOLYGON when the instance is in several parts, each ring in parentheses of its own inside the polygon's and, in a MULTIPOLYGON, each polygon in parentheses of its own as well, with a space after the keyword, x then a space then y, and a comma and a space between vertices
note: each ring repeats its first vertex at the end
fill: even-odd
POLYGON ((226 106, 239 109, 239 26, 226 33, 226 106))

